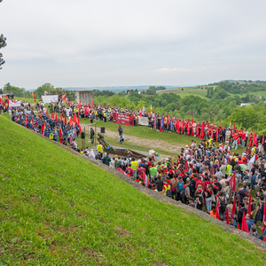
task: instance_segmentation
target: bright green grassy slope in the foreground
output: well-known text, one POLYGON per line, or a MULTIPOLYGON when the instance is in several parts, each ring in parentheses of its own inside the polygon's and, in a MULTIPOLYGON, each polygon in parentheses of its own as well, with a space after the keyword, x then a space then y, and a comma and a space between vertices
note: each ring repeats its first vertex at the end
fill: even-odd
POLYGON ((246 240, 137 192, 1 115, 0 137, 1 264, 264 264, 246 240))

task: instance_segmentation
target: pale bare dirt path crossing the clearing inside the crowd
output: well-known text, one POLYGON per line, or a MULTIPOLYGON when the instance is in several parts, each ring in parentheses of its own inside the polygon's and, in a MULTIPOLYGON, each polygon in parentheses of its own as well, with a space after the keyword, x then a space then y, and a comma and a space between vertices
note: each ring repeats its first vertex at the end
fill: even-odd
MULTIPOLYGON (((81 123, 81 126, 83 128, 84 124, 81 123)), ((97 132, 100 132, 100 128, 97 128, 97 132)), ((118 140, 118 132, 114 132, 113 130, 106 129, 106 137, 110 137, 113 139, 118 140)), ((168 134, 174 134, 174 133, 168 133, 168 134)), ((143 137, 136 137, 124 134, 125 137, 125 143, 129 143, 130 145, 139 145, 139 146, 145 146, 147 148, 150 148, 156 152, 156 149, 160 149, 166 152, 170 153, 180 153, 180 150, 184 145, 176 145, 171 144, 168 141, 165 140, 159 140, 159 139, 150 139, 150 138, 143 138, 143 137)))

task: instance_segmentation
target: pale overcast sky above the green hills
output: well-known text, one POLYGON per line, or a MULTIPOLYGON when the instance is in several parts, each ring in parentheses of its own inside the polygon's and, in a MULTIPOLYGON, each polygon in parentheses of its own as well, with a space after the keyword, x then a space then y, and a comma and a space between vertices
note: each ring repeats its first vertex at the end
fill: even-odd
POLYGON ((265 10, 265 0, 4 0, 0 88, 266 80, 265 10))

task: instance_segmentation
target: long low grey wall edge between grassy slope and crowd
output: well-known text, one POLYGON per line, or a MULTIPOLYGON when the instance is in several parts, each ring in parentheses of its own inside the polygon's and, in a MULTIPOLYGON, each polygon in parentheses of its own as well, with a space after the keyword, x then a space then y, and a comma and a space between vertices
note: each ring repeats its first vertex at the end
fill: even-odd
MULTIPOLYGON (((19 125, 19 124, 18 124, 19 125)), ((21 125, 19 125, 20 127, 23 127, 21 125)), ((24 127, 23 127, 24 128, 24 127)), ((48 137, 44 137, 41 134, 36 133, 35 131, 31 131, 32 133, 45 138, 48 141, 51 141, 54 145, 58 145, 59 147, 65 149, 66 151, 73 153, 76 156, 82 157, 84 160, 90 160, 90 162, 92 162, 93 164, 97 165, 99 168, 102 168, 110 173, 112 173, 115 176, 118 176, 120 179, 122 179, 123 181, 125 181, 126 183, 130 184, 131 186, 133 186, 135 189, 137 189, 139 192, 143 192, 146 195, 152 197, 153 199, 156 200, 160 200, 161 202, 165 202, 165 203, 169 203, 172 205, 175 205, 176 207, 180 207, 182 209, 184 209, 185 211, 187 211, 188 213, 192 213, 194 215, 197 215, 200 218, 206 219, 212 223, 216 223, 218 226, 222 227, 224 231, 228 231, 230 233, 235 233, 236 235, 238 235, 240 238, 246 239, 246 241, 252 242, 254 245, 260 247, 262 250, 266 251, 266 242, 263 242, 261 239, 256 239, 253 236, 251 236, 250 234, 246 233, 245 231, 241 231, 237 228, 235 228, 234 226, 228 225, 227 223, 224 223, 218 219, 216 219, 215 217, 211 216, 211 215, 207 215, 207 213, 200 211, 196 208, 193 207, 189 207, 179 201, 176 200, 172 200, 171 198, 166 197, 165 195, 159 193, 159 192, 154 192, 151 189, 146 188, 143 185, 139 185, 137 182, 131 180, 129 178, 129 176, 126 176, 124 174, 121 174, 121 172, 110 168, 108 166, 106 166, 105 164, 103 164, 102 162, 98 161, 98 160, 93 160, 90 159, 88 156, 81 154, 81 153, 77 153, 74 150, 72 150, 71 148, 69 148, 66 145, 61 145, 59 142, 55 142, 53 140, 51 140, 48 137)))

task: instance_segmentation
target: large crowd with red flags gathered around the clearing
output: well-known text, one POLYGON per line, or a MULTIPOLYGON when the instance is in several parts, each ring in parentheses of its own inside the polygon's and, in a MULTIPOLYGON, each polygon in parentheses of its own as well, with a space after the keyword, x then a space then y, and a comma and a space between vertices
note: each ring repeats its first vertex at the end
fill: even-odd
MULTIPOLYGON (((104 153, 101 145, 98 145, 98 154, 95 155, 89 147, 84 151, 78 149, 75 141, 75 137, 81 133, 80 119, 112 121, 113 112, 129 113, 136 117, 140 113, 118 107, 72 105, 65 102, 51 104, 47 110, 42 101, 35 106, 22 102, 21 106, 12 107, 9 112, 12 121, 55 141, 59 140, 90 158, 101 160, 155 192, 201 211, 205 210, 209 215, 247 231, 256 238, 264 239, 266 235, 266 147, 263 134, 258 136, 235 127, 226 129, 193 120, 177 123, 176 118, 165 119, 158 114, 144 113, 153 129, 159 126, 159 130, 174 130, 193 137, 192 143, 184 146, 176 161, 169 158, 156 162, 154 156, 145 159, 115 155, 111 158, 109 153, 104 153), (204 139, 200 139, 197 144, 195 137, 202 136, 204 139), (218 145, 215 140, 219 142, 218 145), (239 142, 243 146, 242 153, 233 152, 239 142), (261 236, 256 228, 259 221, 262 222, 261 236)), ((122 128, 118 127, 118 131, 121 137, 122 128)), ((94 131, 90 129, 90 141, 93 139, 94 131)))

